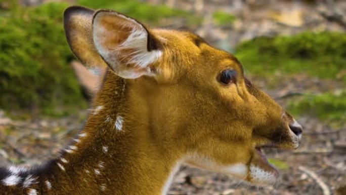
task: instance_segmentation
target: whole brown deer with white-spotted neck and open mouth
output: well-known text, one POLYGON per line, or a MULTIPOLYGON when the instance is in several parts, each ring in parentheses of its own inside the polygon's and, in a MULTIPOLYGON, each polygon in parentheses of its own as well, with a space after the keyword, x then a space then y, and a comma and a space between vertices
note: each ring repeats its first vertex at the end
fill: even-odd
POLYGON ((182 164, 256 185, 280 180, 262 148, 296 149, 302 127, 234 55, 112 10, 72 6, 63 18, 76 58, 106 68, 102 85, 57 157, 0 168, 2 195, 164 195, 182 164))

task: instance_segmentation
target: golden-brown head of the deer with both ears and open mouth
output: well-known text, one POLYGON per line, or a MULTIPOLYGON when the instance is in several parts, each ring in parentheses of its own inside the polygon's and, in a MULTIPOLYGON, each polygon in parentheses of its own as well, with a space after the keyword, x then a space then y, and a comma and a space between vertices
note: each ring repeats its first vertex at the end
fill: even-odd
POLYGON ((149 29, 114 11, 66 13, 72 51, 84 64, 108 66, 105 80, 126 81, 130 119, 146 124, 159 147, 197 167, 276 181, 261 148, 295 149, 302 129, 245 78, 236 57, 191 32, 149 29))

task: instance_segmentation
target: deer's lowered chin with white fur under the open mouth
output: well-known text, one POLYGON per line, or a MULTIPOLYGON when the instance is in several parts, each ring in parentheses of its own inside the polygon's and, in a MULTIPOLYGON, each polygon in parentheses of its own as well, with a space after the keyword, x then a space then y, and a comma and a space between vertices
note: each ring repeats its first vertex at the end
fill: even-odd
POLYGON ((248 168, 248 180, 257 185, 274 185, 280 180, 279 171, 271 165, 261 147, 255 147, 248 168))

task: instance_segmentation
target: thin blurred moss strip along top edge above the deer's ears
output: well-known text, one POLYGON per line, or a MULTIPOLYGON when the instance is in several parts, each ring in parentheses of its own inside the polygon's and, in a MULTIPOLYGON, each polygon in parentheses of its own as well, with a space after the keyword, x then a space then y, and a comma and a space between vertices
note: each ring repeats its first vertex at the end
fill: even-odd
POLYGON ((77 4, 93 9, 112 9, 143 22, 158 23, 164 18, 172 17, 184 18, 189 24, 199 24, 201 22, 200 17, 186 11, 134 0, 77 0, 77 4))

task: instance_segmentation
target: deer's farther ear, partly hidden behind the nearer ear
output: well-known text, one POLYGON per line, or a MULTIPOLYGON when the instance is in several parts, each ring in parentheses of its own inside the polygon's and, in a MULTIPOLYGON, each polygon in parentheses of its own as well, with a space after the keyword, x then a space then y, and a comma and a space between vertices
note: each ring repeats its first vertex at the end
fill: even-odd
POLYGON ((107 66, 93 43, 92 22, 95 11, 72 6, 64 12, 67 42, 73 54, 86 66, 107 66))

